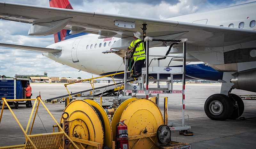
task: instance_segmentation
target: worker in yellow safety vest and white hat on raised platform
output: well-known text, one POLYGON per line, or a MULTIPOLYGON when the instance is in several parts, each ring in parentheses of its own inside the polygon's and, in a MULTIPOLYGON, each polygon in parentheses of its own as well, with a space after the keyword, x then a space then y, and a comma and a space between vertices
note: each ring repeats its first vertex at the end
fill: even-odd
MULTIPOLYGON (((132 41, 132 43, 130 44, 130 46, 127 48, 127 52, 129 54, 129 52, 131 52, 134 48, 135 48, 135 44, 139 41, 141 41, 140 39, 140 32, 133 32, 133 38, 134 40, 132 41)), ((135 62, 135 73, 136 75, 140 74, 141 72, 141 68, 144 67, 144 62, 145 62, 145 50, 144 50, 144 45, 143 45, 143 42, 140 43, 136 49, 135 49, 135 52, 133 54, 133 60, 135 62), (139 56, 142 56, 142 57, 139 57, 139 56), (137 58, 138 57, 138 58, 137 58), (136 60, 137 58, 137 60, 136 60)))

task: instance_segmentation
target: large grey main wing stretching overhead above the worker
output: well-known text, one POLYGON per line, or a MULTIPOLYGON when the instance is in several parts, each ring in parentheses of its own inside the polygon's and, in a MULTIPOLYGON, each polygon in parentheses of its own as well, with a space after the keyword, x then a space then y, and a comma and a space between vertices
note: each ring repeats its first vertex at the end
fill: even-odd
POLYGON ((251 30, 5 2, 0 2, 0 18, 32 24, 29 35, 49 35, 64 28, 99 34, 99 38, 126 38, 147 24, 147 36, 187 38, 195 46, 227 46, 256 39, 256 31, 251 30))

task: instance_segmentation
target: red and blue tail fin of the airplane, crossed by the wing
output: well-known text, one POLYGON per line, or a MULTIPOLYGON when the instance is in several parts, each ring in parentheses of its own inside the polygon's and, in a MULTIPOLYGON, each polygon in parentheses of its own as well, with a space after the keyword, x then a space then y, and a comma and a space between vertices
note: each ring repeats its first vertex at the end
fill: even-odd
MULTIPOLYGON (((50 7, 55 8, 65 8, 65 9, 73 9, 71 4, 68 0, 49 0, 50 7)), ((69 35, 69 30, 61 30, 60 32, 57 32, 54 34, 54 42, 60 42, 62 40, 65 40, 66 37, 69 35)))

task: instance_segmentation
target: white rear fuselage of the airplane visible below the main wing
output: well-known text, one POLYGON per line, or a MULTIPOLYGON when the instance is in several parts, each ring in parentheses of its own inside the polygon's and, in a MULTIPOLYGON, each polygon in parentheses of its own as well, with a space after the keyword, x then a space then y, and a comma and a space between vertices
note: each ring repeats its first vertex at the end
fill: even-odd
MULTIPOLYGON (((98 39, 99 35, 87 34, 76 38, 57 42, 48 48, 61 47, 60 53, 44 53, 43 55, 61 64, 74 67, 95 75, 104 75, 124 71, 123 58, 115 53, 102 53, 110 50, 110 46, 119 38, 98 39), (71 55, 71 56, 70 56, 71 55)), ((150 48, 149 55, 164 55, 168 47, 150 48)), ((176 55, 176 54, 175 54, 176 55)), ((155 58, 155 57, 151 57, 155 58)), ((171 58, 160 61, 161 66, 167 66, 171 58)), ((195 64, 195 62, 190 62, 195 64)), ((197 62, 198 63, 198 62, 197 62)), ((200 62, 199 62, 200 63, 200 62)), ((172 61, 170 66, 182 65, 180 61, 172 61)), ((153 60, 151 66, 157 66, 157 61, 153 60)))

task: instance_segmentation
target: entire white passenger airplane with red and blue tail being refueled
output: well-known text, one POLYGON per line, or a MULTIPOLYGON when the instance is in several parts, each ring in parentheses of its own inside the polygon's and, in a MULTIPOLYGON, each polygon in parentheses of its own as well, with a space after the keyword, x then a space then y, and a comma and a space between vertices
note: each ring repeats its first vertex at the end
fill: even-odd
MULTIPOLYGON (((220 94, 205 101, 204 111, 210 119, 235 119, 243 114, 244 103, 231 93, 232 89, 256 92, 256 2, 164 20, 76 11, 68 0, 54 2, 50 0, 51 8, 0 2, 1 19, 32 24, 28 35, 54 34, 55 40, 45 48, 0 46, 41 52, 78 70, 107 75, 124 70, 124 49, 133 40, 133 32, 141 31, 146 24, 146 36, 188 39, 186 79, 222 83, 220 94), (102 53, 110 49, 115 52, 102 53)), ((164 55, 170 44, 150 42, 149 55, 164 55)), ((170 53, 182 53, 182 45, 174 45, 170 53)), ((160 66, 166 67, 169 61, 162 60, 160 66)), ((181 62, 174 60, 170 65, 181 62)), ((151 66, 157 66, 157 62, 153 60, 151 66)))

